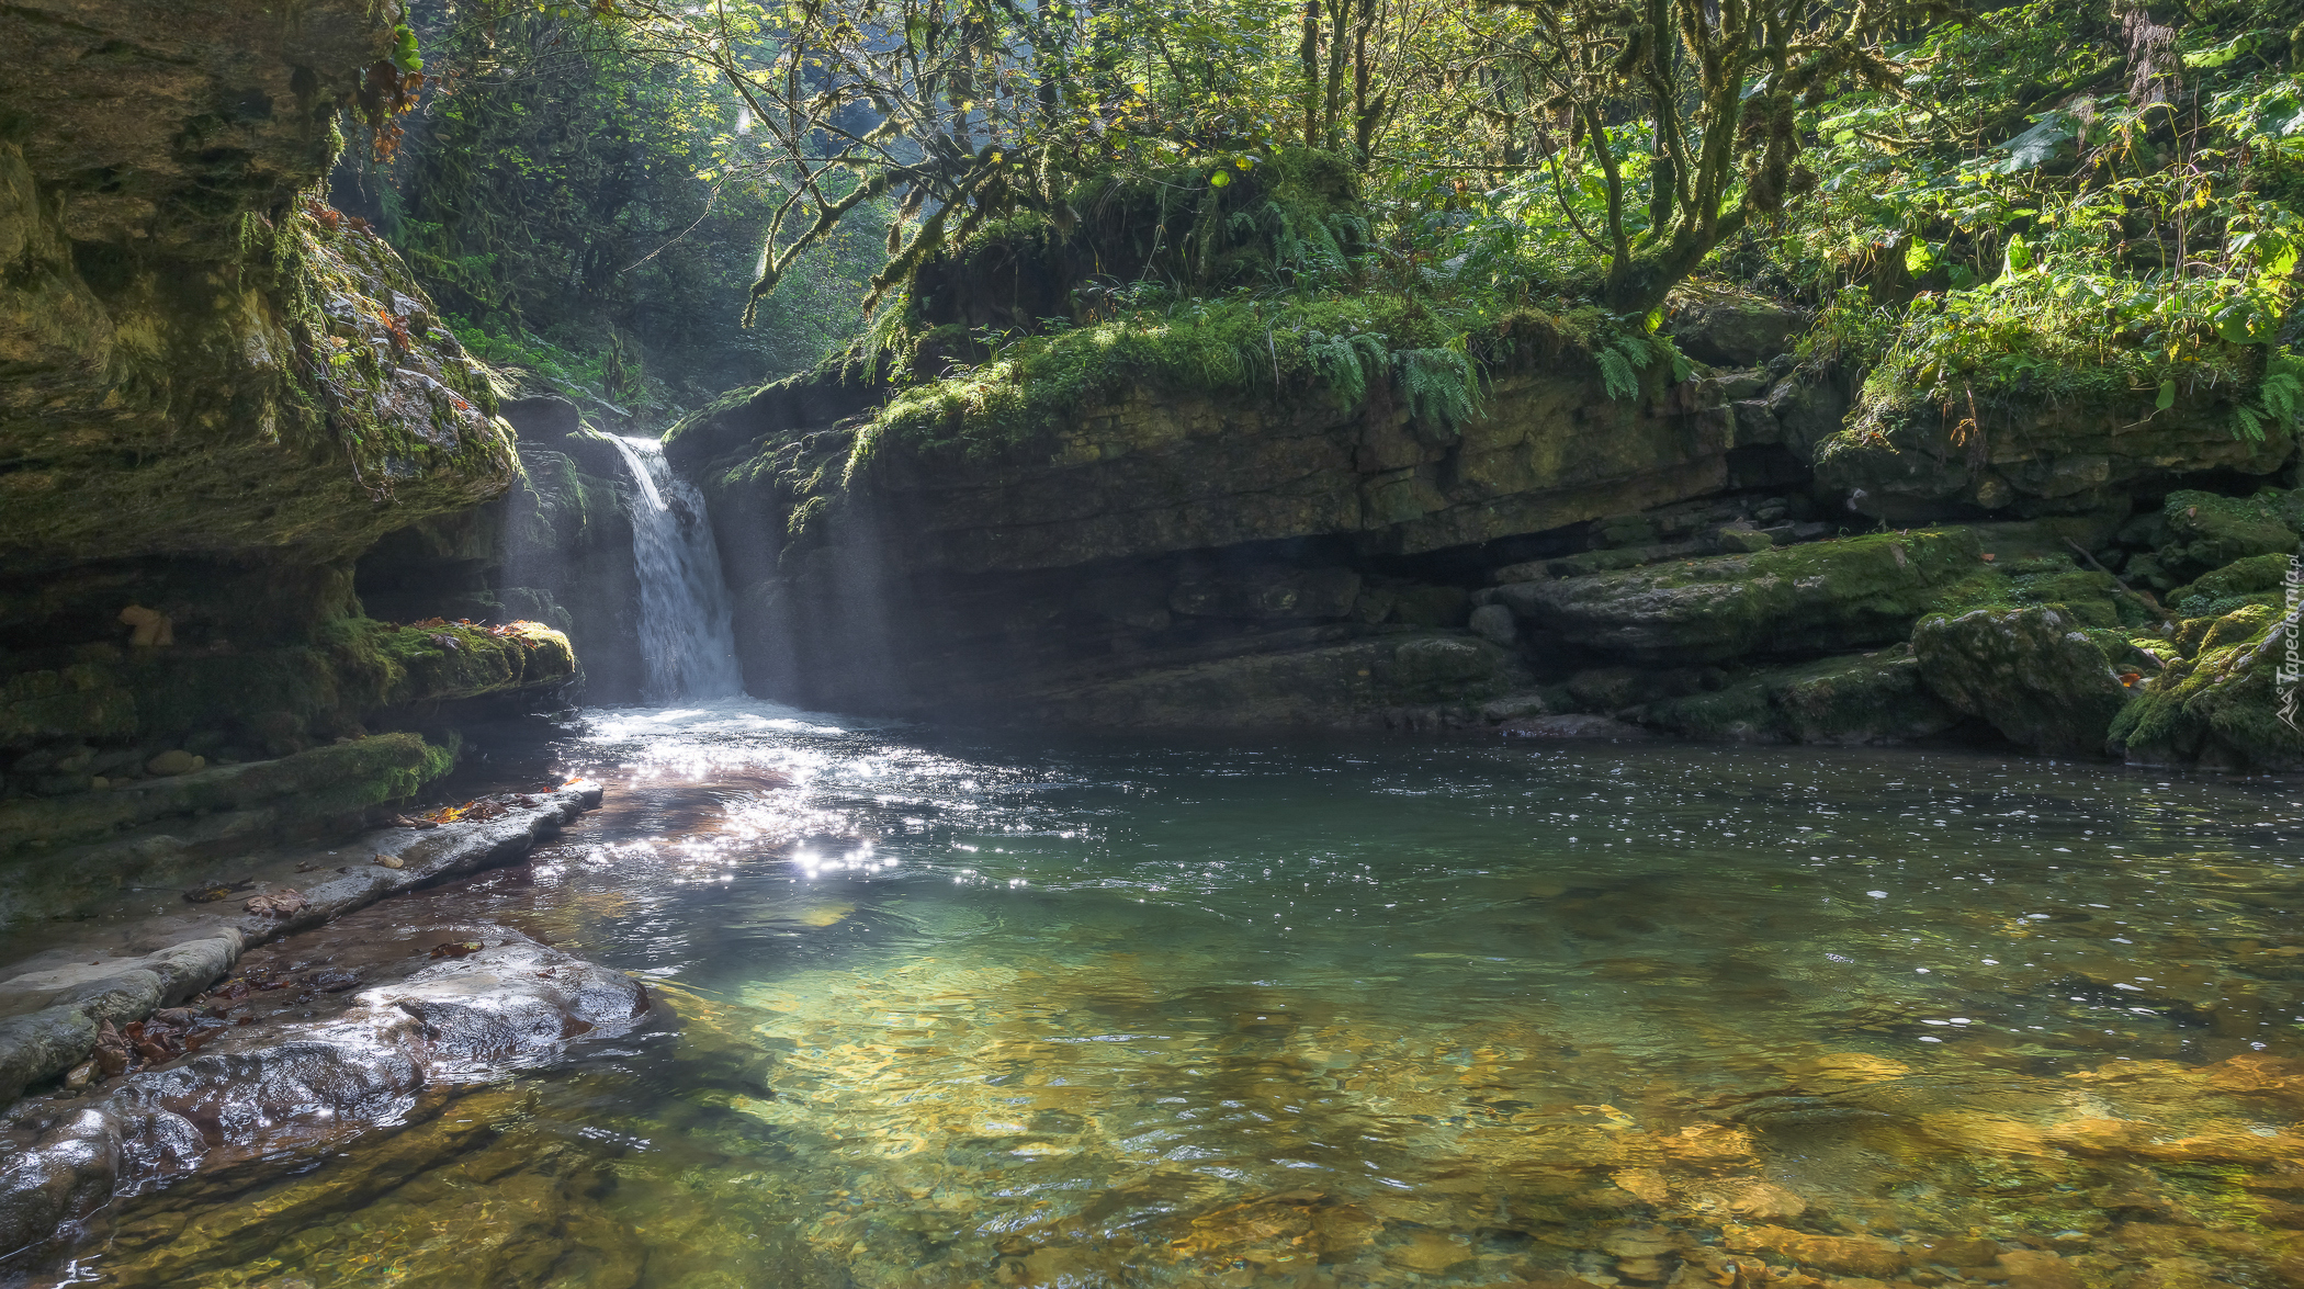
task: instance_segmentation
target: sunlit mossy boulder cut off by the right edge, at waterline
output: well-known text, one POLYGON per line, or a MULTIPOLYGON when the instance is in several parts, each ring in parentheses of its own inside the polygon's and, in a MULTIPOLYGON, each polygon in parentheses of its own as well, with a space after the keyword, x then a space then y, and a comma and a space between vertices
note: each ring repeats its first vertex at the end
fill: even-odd
POLYGON ((2138 686, 2110 725, 2134 764, 2304 769, 2304 633, 2276 605, 2184 624, 2189 656, 2138 686))

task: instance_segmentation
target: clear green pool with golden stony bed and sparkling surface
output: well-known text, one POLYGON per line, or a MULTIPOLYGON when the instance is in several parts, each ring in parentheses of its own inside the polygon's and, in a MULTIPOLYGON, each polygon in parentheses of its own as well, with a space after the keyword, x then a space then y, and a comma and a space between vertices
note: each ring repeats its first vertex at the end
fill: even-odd
POLYGON ((429 900, 666 1024, 138 1199, 90 1275, 2304 1275, 2297 783, 592 716, 606 806, 429 900))

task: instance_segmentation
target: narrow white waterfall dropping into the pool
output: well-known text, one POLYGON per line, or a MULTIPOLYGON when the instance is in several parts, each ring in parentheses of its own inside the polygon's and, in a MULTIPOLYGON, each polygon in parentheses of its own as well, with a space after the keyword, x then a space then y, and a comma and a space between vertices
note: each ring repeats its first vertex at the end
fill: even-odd
POLYGON ((744 693, 735 612, 703 493, 673 474, 657 440, 611 442, 641 493, 631 506, 631 562, 641 573, 643 693, 650 702, 744 693))

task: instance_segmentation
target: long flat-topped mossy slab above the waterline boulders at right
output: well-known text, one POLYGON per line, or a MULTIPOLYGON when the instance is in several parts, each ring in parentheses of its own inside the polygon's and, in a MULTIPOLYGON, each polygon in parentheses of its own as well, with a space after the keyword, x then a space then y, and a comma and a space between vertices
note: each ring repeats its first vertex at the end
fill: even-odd
POLYGON ((1928 529, 1502 587, 1534 628, 1650 661, 1887 644, 1981 566, 1975 534, 1928 529))

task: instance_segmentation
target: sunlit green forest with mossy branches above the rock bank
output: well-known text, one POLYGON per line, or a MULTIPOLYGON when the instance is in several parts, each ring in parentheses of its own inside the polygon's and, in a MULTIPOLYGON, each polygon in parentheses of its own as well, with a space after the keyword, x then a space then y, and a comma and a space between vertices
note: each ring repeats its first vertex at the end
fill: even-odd
POLYGON ((1813 308, 1799 361, 1878 417, 2210 384, 2253 437, 2304 410, 2299 16, 412 0, 332 200, 479 357, 636 426, 813 364, 899 426, 1115 382, 1447 421, 1532 334, 1617 396, 1687 375, 1663 322, 1733 288, 1813 308))

